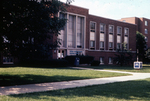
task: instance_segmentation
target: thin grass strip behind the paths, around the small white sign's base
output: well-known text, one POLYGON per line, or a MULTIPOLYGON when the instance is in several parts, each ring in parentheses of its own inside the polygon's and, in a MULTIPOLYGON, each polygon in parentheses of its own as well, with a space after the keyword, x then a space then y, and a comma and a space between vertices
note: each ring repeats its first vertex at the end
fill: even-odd
POLYGON ((136 70, 133 66, 86 66, 85 68, 93 68, 93 69, 105 69, 105 70, 117 70, 117 71, 127 71, 127 72, 137 72, 137 73, 150 73, 150 64, 143 64, 143 68, 140 70, 136 70))

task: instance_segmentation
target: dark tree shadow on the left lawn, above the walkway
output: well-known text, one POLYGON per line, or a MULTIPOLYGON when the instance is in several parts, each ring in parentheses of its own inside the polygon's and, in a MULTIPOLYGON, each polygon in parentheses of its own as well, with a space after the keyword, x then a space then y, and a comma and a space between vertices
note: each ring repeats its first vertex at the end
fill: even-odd
POLYGON ((70 80, 89 79, 88 77, 73 77, 73 76, 42 76, 42 75, 0 75, 0 86, 13 86, 46 82, 60 82, 70 80))

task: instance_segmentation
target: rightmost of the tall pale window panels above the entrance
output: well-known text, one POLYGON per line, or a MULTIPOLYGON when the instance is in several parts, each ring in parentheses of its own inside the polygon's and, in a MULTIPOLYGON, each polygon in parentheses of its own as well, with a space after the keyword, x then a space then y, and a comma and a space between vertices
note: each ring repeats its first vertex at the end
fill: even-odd
POLYGON ((82 17, 78 17, 77 21, 77 48, 82 48, 82 37, 83 37, 83 19, 82 17))

